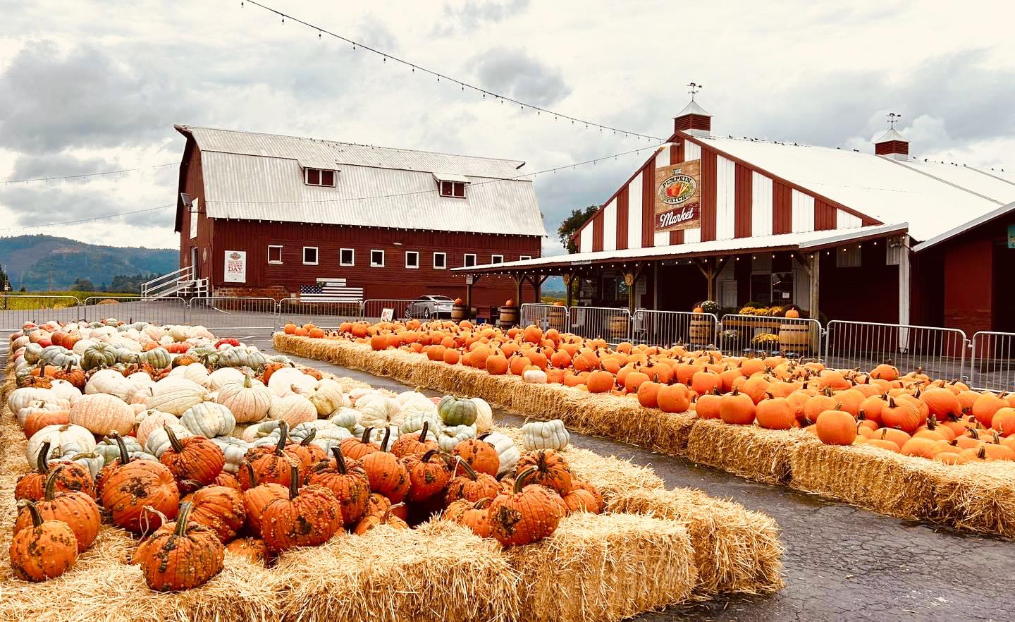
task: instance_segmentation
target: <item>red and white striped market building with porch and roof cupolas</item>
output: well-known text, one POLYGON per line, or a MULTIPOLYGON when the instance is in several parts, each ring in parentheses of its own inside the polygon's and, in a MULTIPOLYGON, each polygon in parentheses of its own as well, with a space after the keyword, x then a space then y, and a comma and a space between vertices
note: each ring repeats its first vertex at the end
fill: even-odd
POLYGON ((457 271, 579 279, 568 306, 792 303, 821 320, 1015 329, 1015 172, 911 156, 893 128, 865 152, 712 121, 692 100, 574 234, 577 254, 457 271))

